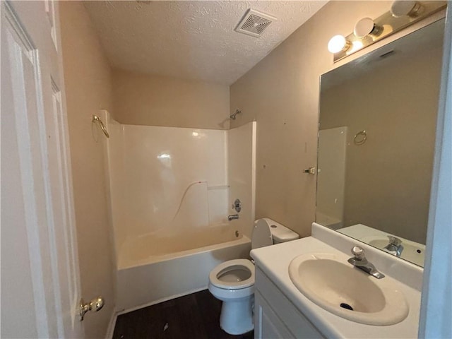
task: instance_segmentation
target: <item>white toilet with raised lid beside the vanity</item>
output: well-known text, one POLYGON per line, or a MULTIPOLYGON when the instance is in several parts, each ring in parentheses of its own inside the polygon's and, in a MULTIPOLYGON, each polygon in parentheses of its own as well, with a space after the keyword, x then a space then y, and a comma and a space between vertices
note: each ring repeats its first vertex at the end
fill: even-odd
MULTIPOLYGON (((251 249, 290 242, 299 235, 274 220, 263 218, 254 222, 251 249)), ((209 274, 208 289, 222 301, 220 327, 238 335, 254 328, 254 264, 248 259, 220 263, 209 274)))

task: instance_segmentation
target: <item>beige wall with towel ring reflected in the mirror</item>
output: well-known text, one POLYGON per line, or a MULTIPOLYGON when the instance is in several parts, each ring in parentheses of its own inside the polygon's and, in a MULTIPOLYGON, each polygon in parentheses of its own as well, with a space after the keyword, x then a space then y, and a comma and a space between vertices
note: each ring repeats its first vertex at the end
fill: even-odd
POLYGON ((322 92, 321 129, 349 129, 344 226, 362 223, 425 244, 441 54, 422 47, 411 57, 394 54, 322 92), (357 146, 353 137, 363 129, 368 139, 357 146))

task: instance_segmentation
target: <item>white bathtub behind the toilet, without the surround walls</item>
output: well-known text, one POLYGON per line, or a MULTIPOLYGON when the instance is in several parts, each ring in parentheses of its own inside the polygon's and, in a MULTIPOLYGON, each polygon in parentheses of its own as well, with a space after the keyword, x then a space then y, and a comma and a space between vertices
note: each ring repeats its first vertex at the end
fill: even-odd
POLYGON ((235 232, 224 225, 127 239, 117 261, 116 310, 126 313, 205 290, 219 263, 249 258, 250 239, 235 232))

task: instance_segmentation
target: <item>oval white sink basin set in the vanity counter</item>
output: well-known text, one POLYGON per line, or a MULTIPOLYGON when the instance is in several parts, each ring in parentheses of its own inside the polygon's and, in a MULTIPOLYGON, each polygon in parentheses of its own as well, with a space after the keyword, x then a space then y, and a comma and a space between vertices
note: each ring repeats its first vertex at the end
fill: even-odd
POLYGON ((297 256, 289 275, 311 302, 345 319, 385 326, 408 316, 405 297, 389 278, 378 280, 335 254, 297 256))

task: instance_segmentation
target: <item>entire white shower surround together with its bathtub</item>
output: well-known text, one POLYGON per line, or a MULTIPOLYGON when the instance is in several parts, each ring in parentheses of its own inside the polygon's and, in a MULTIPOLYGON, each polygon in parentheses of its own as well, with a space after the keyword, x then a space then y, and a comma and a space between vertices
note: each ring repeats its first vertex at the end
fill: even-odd
POLYGON ((224 131, 124 125, 107 112, 102 119, 117 311, 203 290, 218 263, 248 256, 256 122, 224 131), (235 198, 240 218, 227 221, 235 198))

